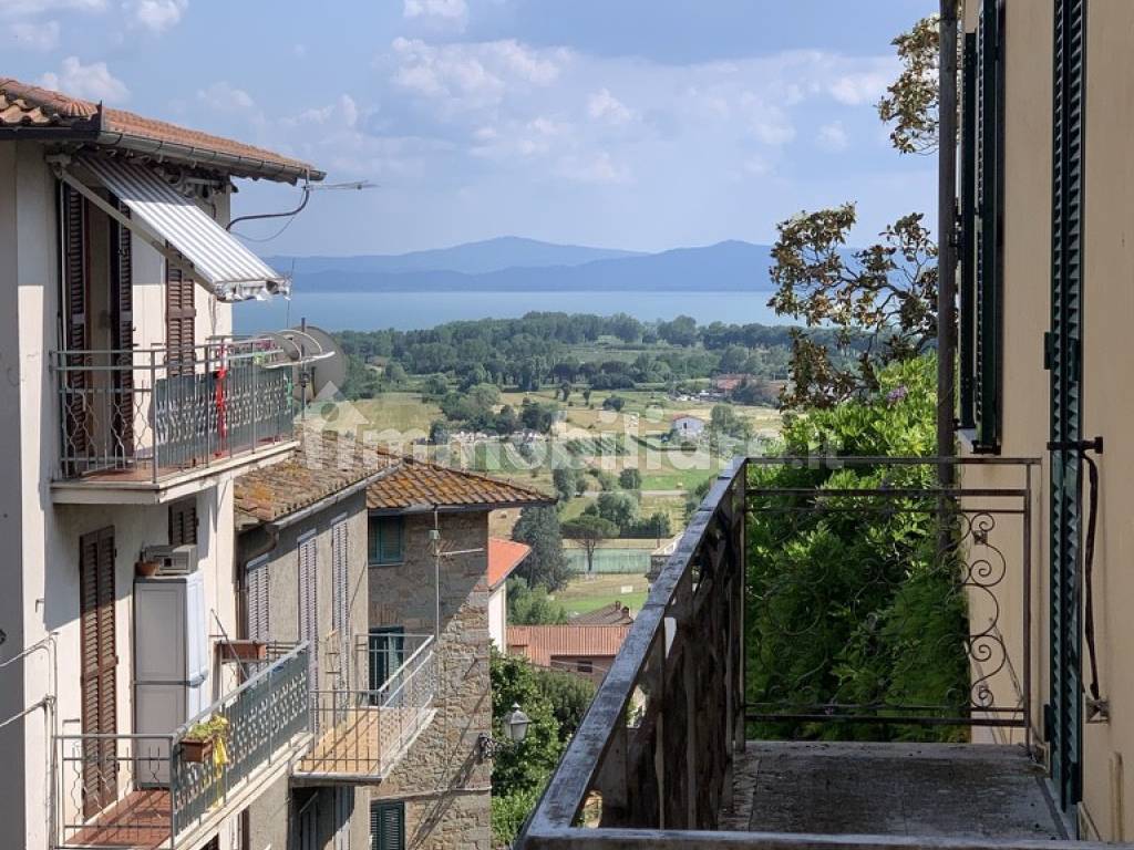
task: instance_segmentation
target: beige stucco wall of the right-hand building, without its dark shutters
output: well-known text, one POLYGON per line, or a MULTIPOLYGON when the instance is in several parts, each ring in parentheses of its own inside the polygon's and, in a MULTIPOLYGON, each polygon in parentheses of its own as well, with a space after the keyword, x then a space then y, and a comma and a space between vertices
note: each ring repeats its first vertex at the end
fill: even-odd
MULTIPOLYGON (((965 29, 975 33, 982 3, 967 0, 965 29)), ((1000 441, 1004 457, 1039 458, 1038 499, 1031 535, 1032 664, 1030 695, 1034 740, 1050 764, 1044 706, 1050 687, 1051 598, 1051 439, 1052 373, 1044 367, 1044 334, 1052 330, 1052 161, 1055 17, 1058 3, 1004 5, 1004 201, 1002 201, 1002 362, 1000 364, 1000 441)), ((1126 601, 1134 594, 1134 534, 1131 504, 1134 445, 1126 439, 1134 422, 1134 394, 1125 391, 1134 326, 1134 5, 1126 0, 1085 3, 1085 111, 1082 182, 1082 431, 1084 439, 1105 437, 1099 465, 1098 534, 1092 587, 1099 685, 1108 705, 1105 716, 1081 726, 1078 768, 1081 800, 1065 810, 1086 839, 1125 841, 1134 836, 1134 672, 1126 663, 1134 645, 1134 621, 1126 601)), ((972 451, 972 435, 962 440, 972 451)), ((1083 482, 1084 521, 1077 535, 1086 539, 1090 510, 1086 467, 1083 482)), ((1007 469, 968 469, 964 486, 1015 486, 1007 469)), ((1005 552, 1009 564, 1023 560, 1022 545, 1005 552)), ((1082 558, 1082 549, 1080 550, 1082 558)), ((1080 561, 1082 564, 1082 561, 1080 561)), ((1018 601, 1024 586, 1018 569, 1007 577, 1007 598, 1018 601)), ((1082 600, 1080 600, 1082 602, 1082 600)), ((1084 624, 1083 610, 1078 627, 1084 624)), ((1091 677, 1085 634, 1082 635, 1084 687, 1091 677)), ((1078 699, 1083 695, 1077 695, 1078 699)), ((1088 713, 1084 711, 1084 717, 1088 713)), ((1058 796, 1057 796, 1058 799, 1058 796)))

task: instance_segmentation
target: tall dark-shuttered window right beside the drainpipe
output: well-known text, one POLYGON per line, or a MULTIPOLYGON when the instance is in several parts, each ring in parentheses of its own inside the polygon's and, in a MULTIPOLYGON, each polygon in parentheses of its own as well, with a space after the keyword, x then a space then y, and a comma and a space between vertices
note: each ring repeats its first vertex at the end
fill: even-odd
POLYGON ((966 34, 960 158, 960 426, 1000 449, 1004 283, 1004 6, 981 0, 966 34))

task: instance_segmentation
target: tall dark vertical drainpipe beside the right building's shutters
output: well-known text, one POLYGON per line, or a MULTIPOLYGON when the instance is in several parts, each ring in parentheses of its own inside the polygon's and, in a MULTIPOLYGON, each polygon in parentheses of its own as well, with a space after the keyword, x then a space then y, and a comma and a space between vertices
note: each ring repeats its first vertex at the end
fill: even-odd
MULTIPOLYGON (((940 105, 938 142, 938 309, 937 453, 955 453, 957 328, 957 0, 941 0, 940 105)), ((938 466, 942 487, 954 482, 954 465, 938 466)))

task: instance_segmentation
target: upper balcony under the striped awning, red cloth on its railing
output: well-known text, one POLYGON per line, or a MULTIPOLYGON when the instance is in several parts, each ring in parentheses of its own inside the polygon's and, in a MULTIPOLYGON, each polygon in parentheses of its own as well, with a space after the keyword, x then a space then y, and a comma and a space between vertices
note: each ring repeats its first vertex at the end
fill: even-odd
POLYGON ((57 502, 153 502, 291 448, 291 369, 271 340, 51 352, 57 502))

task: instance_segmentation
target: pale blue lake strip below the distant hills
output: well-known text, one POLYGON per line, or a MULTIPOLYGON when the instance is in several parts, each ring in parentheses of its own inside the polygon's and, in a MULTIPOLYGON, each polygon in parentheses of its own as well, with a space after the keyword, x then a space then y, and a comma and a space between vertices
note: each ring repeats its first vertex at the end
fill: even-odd
POLYGON ((525 313, 628 313, 642 321, 693 316, 699 324, 785 324, 770 292, 296 292, 290 300, 240 304, 237 331, 297 325, 328 331, 416 330, 465 318, 515 318, 525 313))

